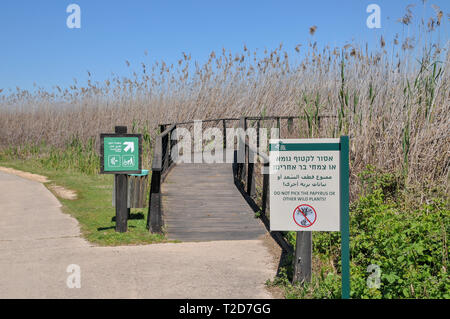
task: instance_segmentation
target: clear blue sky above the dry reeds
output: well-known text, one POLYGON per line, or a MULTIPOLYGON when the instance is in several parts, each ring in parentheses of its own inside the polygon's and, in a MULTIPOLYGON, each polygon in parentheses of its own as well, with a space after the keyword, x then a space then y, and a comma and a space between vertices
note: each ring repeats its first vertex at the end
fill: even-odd
MULTIPOLYGON (((81 83, 87 70, 95 81, 114 72, 129 75, 140 63, 176 62, 182 52, 205 61, 222 47, 240 52, 273 49, 281 42, 286 50, 311 39, 308 29, 317 25, 319 46, 378 43, 381 34, 402 32, 396 20, 405 7, 419 0, 317 0, 317 1, 104 1, 104 0, 4 0, 0 10, 0 89, 33 89, 81 83), (69 29, 66 8, 81 8, 81 28, 69 29), (366 26, 366 7, 381 8, 381 29, 366 26), (144 55, 148 51, 148 56, 144 55), (127 68, 125 60, 131 62, 127 68), (131 70, 131 71, 130 71, 131 70)), ((430 0, 444 12, 441 37, 448 40, 450 1, 430 0)), ((428 13, 432 10, 429 9, 428 13)), ((6 93, 6 92, 4 92, 6 93)))

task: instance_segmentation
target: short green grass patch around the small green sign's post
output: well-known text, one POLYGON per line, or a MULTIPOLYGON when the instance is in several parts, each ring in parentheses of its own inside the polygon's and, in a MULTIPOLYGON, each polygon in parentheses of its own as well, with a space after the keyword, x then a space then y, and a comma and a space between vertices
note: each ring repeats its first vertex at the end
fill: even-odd
MULTIPOLYGON (((75 217, 84 238, 100 246, 137 245, 165 242, 164 235, 146 228, 147 209, 132 209, 126 233, 115 232, 112 206, 113 175, 84 174, 78 170, 44 167, 39 159, 0 160, 1 166, 45 175, 52 182, 77 192, 77 200, 59 198, 63 211, 75 217)), ((49 183, 47 183, 49 184, 49 183)))

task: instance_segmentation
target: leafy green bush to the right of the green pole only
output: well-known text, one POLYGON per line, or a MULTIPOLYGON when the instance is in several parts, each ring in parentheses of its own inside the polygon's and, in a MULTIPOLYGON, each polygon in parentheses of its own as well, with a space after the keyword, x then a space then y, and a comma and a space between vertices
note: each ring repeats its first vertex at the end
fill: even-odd
POLYGON ((400 211, 383 191, 362 197, 351 214, 352 295, 449 298, 446 237, 450 211, 434 199, 420 210, 400 211), (381 286, 367 286, 367 267, 378 265, 381 286))

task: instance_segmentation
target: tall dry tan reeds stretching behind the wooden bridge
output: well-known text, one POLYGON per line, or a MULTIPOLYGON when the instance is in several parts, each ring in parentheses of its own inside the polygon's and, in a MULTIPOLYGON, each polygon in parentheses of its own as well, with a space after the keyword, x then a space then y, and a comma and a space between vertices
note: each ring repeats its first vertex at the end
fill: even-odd
MULTIPOLYGON (((3 91, 0 148, 16 145, 11 152, 21 156, 43 145, 47 154, 68 144, 97 149, 99 133, 118 124, 144 133, 150 147, 161 122, 261 114, 314 119, 318 113, 336 119, 320 131, 312 120, 309 134, 349 134, 353 176, 373 164, 401 171, 409 182, 446 183, 450 54, 447 40, 434 41, 447 22, 435 10, 419 23, 417 38, 381 37, 376 50, 357 44, 319 49, 313 34, 320 28, 313 26, 309 44, 290 55, 282 45, 264 52, 244 46, 236 54, 212 52, 199 65, 183 53, 175 65, 141 63, 131 77, 99 83, 88 72, 87 86, 74 80, 52 92, 3 91)), ((408 7, 399 23, 409 28, 412 20, 408 7)))

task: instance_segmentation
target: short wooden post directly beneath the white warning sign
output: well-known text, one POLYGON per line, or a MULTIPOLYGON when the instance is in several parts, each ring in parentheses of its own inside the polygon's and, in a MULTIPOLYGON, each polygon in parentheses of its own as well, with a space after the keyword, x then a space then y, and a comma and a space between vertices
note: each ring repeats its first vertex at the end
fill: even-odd
POLYGON ((298 231, 295 242, 293 283, 311 281, 312 232, 298 231))

